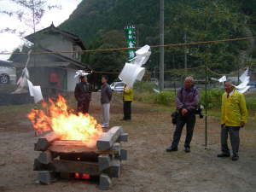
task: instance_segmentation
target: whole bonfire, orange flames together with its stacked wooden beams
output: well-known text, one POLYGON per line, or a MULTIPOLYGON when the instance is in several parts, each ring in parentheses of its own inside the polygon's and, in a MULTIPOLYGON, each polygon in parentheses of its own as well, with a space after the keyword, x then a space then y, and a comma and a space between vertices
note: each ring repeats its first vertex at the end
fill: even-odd
POLYGON ((115 126, 108 132, 90 115, 73 113, 59 96, 56 103, 44 103, 43 110, 28 114, 36 131, 47 132, 35 143, 41 151, 34 161, 38 182, 49 184, 58 177, 90 179, 100 178, 100 189, 109 189, 112 177, 119 177, 120 164, 127 159, 122 142, 128 134, 115 126))

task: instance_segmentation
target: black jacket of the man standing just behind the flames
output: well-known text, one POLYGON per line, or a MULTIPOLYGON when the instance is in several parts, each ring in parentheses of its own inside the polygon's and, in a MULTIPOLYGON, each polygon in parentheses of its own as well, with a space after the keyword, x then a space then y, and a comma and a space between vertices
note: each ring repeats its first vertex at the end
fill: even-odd
POLYGON ((91 99, 91 90, 89 83, 80 82, 76 85, 74 96, 78 102, 89 102, 91 99))

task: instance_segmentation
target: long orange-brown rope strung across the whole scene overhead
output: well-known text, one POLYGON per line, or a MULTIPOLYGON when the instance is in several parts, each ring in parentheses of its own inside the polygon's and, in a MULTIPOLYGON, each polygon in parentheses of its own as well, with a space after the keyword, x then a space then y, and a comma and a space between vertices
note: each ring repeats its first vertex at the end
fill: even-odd
MULTIPOLYGON (((199 45, 199 44, 218 44, 223 42, 235 42, 235 41, 243 41, 248 39, 256 38, 256 36, 244 37, 244 38, 228 38, 222 40, 214 40, 214 41, 201 41, 194 43, 182 43, 182 44, 165 44, 165 45, 152 45, 151 48, 160 48, 160 47, 182 47, 189 45, 199 45)), ((135 48, 112 48, 112 49, 88 49, 88 50, 70 50, 70 51, 42 51, 42 52, 32 52, 31 55, 51 55, 51 54, 67 54, 67 53, 90 53, 90 52, 108 52, 115 50, 128 50, 128 49, 140 49, 142 47, 135 48)), ((0 55, 27 55, 26 52, 19 53, 11 53, 11 52, 0 52, 0 55)))

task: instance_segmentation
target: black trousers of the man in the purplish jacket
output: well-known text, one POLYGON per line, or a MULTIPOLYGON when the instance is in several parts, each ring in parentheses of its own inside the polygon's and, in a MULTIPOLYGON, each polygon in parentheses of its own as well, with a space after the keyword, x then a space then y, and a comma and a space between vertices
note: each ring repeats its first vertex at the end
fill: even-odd
POLYGON ((182 115, 181 113, 177 116, 177 125, 176 130, 174 131, 173 140, 172 140, 172 148, 177 148, 180 137, 182 135, 183 126, 186 124, 187 134, 184 147, 190 148, 190 143, 193 137, 193 132, 195 128, 195 113, 187 113, 182 115))

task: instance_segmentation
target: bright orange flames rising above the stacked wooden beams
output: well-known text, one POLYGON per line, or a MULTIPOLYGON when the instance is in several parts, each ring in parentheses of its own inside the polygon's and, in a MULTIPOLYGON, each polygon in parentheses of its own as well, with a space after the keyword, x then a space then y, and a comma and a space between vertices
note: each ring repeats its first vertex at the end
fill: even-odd
POLYGON ((102 136, 102 126, 96 119, 89 114, 73 113, 63 96, 58 96, 56 102, 49 99, 49 105, 43 102, 42 107, 44 110, 32 109, 27 114, 38 133, 55 131, 62 140, 82 141, 89 148, 94 148, 102 136))

